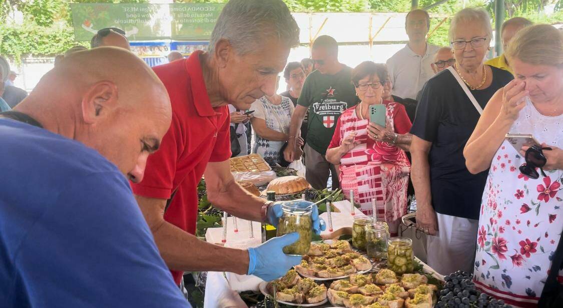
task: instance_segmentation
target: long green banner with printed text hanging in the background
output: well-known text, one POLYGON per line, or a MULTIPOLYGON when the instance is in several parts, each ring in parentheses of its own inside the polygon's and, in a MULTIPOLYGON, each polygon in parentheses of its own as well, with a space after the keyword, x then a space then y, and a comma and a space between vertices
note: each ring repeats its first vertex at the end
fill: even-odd
POLYGON ((123 29, 129 40, 208 40, 225 4, 73 3, 74 38, 90 40, 98 30, 123 29))

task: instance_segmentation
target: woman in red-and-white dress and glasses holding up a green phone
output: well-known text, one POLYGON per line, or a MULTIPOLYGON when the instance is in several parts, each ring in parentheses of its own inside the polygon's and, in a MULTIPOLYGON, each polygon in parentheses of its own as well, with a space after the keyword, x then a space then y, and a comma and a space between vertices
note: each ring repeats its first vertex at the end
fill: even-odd
MULTIPOLYGON (((387 69, 383 64, 365 61, 352 70, 352 84, 360 103, 348 108, 338 118, 327 160, 339 165, 340 183, 345 196, 354 201, 365 214, 372 214, 372 200, 378 209, 385 209, 382 218, 391 234, 397 233, 401 216, 406 214, 406 189, 410 163, 411 126, 405 107, 384 101, 383 85, 387 69), (370 106, 385 106, 385 127, 370 122, 370 106)), ((381 213, 379 213, 381 214, 381 213)))

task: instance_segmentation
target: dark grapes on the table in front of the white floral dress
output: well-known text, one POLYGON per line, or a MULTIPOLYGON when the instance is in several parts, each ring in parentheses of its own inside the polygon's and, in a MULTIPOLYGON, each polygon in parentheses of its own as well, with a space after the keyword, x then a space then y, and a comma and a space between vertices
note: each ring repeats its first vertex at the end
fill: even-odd
POLYGON ((481 293, 475 288, 471 274, 458 270, 444 277, 445 285, 440 291, 436 308, 510 308, 503 300, 481 293))

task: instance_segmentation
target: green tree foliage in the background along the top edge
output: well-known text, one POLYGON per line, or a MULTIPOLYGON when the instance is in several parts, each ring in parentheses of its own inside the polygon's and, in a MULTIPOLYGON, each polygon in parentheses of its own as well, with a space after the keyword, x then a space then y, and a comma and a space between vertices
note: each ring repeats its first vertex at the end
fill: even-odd
MULTIPOLYGON (((419 0, 424 8, 437 0, 419 0)), ((0 55, 14 58, 53 56, 64 53, 77 44, 74 40, 69 4, 73 3, 146 3, 148 0, 0 0, 0 55), (24 22, 15 24, 11 16, 23 13, 24 22)), ((175 2, 222 3, 227 0, 175 0, 175 2)), ((410 0, 284 0, 293 12, 408 12, 410 0)), ((563 0, 505 0, 506 18, 523 16, 535 22, 563 22, 563 0), (555 5, 556 13, 547 16, 543 8, 555 5)), ((434 30, 444 17, 453 16, 464 6, 485 7, 494 16, 491 0, 449 0, 428 10, 438 17, 432 18, 434 30)), ((449 19, 438 26, 430 37, 432 43, 448 44, 449 19)))

